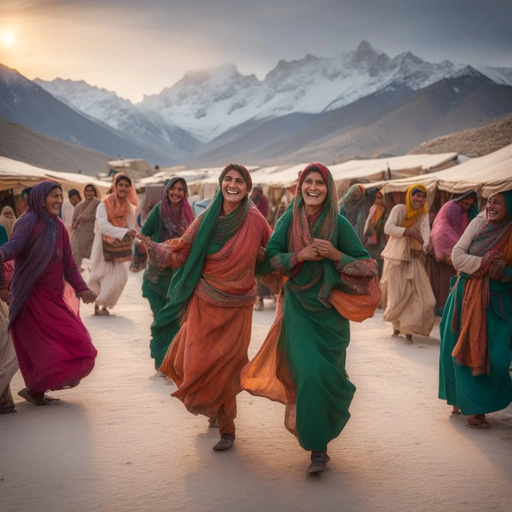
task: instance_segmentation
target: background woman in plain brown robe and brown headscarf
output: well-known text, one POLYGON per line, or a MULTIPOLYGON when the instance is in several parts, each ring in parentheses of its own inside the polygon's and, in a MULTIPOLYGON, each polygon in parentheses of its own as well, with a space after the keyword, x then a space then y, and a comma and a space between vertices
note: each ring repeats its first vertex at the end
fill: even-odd
POLYGON ((82 260, 91 257, 94 241, 94 222, 99 203, 98 189, 89 183, 83 189, 84 200, 78 203, 73 214, 71 248, 76 265, 82 270, 82 260))

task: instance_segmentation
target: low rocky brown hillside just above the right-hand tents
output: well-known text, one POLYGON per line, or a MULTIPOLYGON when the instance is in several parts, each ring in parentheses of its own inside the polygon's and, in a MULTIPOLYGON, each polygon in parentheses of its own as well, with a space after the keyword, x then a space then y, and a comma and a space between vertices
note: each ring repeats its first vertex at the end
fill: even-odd
POLYGON ((512 144, 512 114, 480 128, 463 130, 423 142, 410 154, 457 152, 471 157, 481 157, 508 144, 512 144))

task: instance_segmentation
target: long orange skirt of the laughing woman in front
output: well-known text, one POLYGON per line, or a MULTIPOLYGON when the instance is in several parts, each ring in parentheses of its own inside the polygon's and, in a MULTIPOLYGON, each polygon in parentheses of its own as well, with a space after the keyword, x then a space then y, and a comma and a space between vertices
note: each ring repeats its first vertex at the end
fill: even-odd
POLYGON ((172 396, 193 414, 217 418, 221 434, 235 432, 252 308, 215 306, 194 294, 160 367, 178 386, 172 396))

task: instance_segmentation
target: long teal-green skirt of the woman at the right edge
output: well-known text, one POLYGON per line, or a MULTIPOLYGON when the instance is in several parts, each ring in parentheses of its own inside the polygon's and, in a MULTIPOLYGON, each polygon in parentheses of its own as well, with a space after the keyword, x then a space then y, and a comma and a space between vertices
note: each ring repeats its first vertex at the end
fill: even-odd
MULTIPOLYGON (((505 275, 512 278, 509 267, 505 275)), ((461 317, 463 285, 471 276, 461 273, 460 279, 461 283, 450 292, 440 325, 439 398, 457 406, 464 415, 501 411, 512 402, 512 379, 508 370, 512 359, 512 283, 490 281, 486 312, 490 375, 474 377, 470 367, 457 365, 452 356, 459 337, 459 332, 452 331, 452 317, 454 312, 461 317)), ((454 276, 450 281, 452 287, 456 281, 457 276, 454 276)))

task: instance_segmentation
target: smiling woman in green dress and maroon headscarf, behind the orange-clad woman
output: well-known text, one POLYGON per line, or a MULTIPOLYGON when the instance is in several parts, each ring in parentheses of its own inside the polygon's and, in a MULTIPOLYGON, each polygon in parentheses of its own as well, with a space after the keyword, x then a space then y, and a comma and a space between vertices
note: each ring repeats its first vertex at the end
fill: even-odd
MULTIPOLYGON (((176 176, 168 181, 162 193, 162 200, 151 210, 141 233, 153 238, 155 243, 163 243, 173 238, 180 238, 188 226, 194 222, 194 214, 188 202, 187 184, 183 178, 176 176)), ((142 259, 142 261, 144 261, 142 259)), ((138 271, 141 262, 134 261, 132 270, 138 271)), ((144 272, 142 296, 150 302, 153 318, 165 306, 167 291, 173 269, 161 270, 150 261, 144 272)), ((151 357, 155 359, 155 368, 159 369, 169 348, 170 339, 153 338, 150 343, 151 357)))

